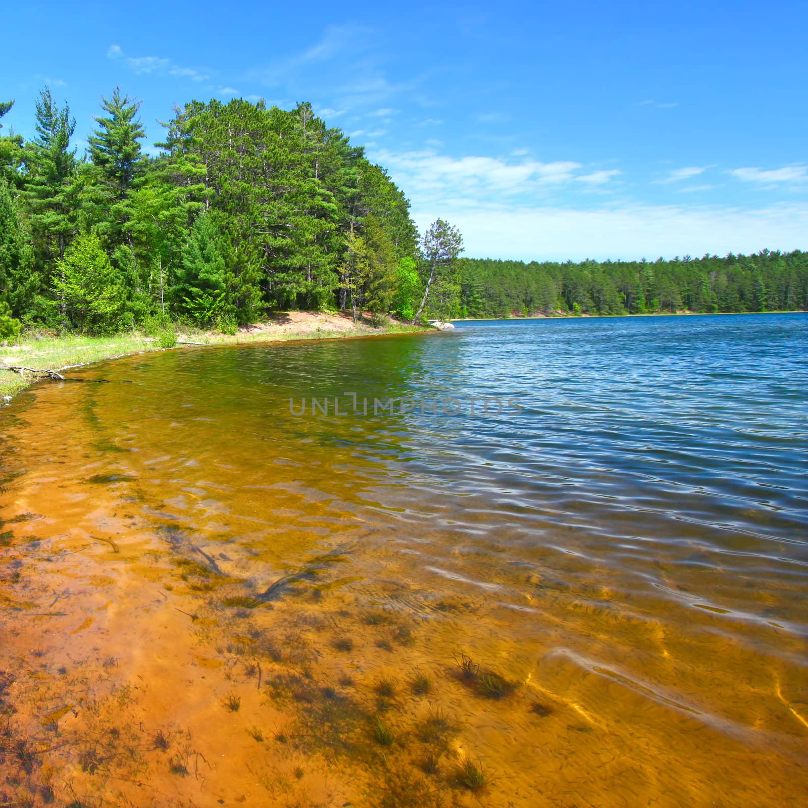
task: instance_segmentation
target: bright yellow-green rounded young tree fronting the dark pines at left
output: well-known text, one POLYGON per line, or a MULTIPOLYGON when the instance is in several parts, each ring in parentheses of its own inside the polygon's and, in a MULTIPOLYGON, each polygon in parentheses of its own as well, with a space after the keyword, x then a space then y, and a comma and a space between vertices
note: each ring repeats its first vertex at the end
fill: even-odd
POLYGON ((93 234, 79 235, 58 262, 57 295, 79 331, 111 334, 125 322, 120 275, 93 234))

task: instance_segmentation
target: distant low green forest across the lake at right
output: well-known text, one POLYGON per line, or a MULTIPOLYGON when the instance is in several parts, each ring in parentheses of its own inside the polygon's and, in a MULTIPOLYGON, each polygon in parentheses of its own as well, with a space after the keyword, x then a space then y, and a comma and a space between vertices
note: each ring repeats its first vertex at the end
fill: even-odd
POLYGON ((459 259, 461 317, 805 311, 808 253, 573 263, 459 259))

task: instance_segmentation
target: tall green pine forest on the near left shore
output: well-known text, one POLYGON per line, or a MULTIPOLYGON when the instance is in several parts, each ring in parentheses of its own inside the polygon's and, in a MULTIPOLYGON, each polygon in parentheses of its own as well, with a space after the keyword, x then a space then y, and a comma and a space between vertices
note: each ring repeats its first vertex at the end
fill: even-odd
POLYGON ((103 97, 82 156, 47 88, 36 137, 0 132, 0 339, 178 320, 233 333, 279 309, 457 312, 460 234, 439 220, 419 237, 387 171, 309 103, 192 101, 162 123, 157 156, 139 107, 120 87, 103 97))

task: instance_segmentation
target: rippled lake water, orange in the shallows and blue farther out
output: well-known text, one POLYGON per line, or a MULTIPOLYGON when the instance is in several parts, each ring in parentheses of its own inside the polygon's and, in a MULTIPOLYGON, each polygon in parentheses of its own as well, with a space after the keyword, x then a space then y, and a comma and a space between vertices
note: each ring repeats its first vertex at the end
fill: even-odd
POLYGON ((0 803, 799 804, 806 323, 191 349, 24 393, 0 803))

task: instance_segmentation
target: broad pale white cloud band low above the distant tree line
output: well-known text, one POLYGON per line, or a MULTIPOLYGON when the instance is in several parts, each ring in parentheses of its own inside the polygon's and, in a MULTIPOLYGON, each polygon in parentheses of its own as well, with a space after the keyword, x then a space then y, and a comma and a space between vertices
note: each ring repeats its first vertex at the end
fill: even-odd
POLYGON ((656 259, 803 249, 808 205, 758 210, 630 205, 594 210, 488 204, 469 209, 415 201, 421 229, 438 217, 461 230, 465 254, 524 260, 656 259))

